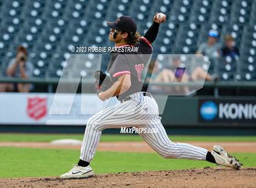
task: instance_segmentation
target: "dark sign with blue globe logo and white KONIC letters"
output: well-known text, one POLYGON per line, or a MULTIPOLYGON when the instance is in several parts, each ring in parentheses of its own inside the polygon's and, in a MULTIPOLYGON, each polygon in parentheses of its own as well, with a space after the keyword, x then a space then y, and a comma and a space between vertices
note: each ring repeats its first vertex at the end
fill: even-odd
POLYGON ((256 124, 256 100, 200 99, 200 122, 236 122, 256 124))

